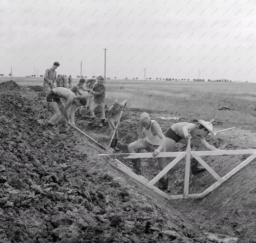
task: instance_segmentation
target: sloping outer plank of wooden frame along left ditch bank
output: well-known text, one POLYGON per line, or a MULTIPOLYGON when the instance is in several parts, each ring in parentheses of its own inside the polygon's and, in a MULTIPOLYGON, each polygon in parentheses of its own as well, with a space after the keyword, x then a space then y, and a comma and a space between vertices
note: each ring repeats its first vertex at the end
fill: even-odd
POLYGON ((167 193, 161 191, 159 188, 155 187, 154 185, 153 186, 149 185, 148 181, 145 180, 144 177, 135 174, 130 168, 128 168, 127 166, 124 166, 122 163, 119 163, 118 160, 113 160, 112 158, 108 157, 108 155, 105 155, 105 157, 102 157, 102 158, 104 158, 106 160, 112 160, 112 162, 115 161, 114 165, 115 165, 115 167, 117 167, 117 169, 120 169, 126 175, 129 175, 130 177, 132 177, 133 179, 137 180, 141 184, 143 184, 146 187, 152 189, 155 193, 159 194, 163 198, 166 198, 168 200, 173 199, 170 195, 168 195, 167 193))

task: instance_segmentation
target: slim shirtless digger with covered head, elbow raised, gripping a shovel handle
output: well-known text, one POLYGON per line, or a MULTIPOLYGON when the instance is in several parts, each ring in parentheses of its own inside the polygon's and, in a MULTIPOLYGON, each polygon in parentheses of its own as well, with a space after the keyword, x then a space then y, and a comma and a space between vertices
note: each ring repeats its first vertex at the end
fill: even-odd
POLYGON ((110 139, 112 138, 113 132, 116 129, 115 136, 110 145, 110 147, 115 149, 115 151, 119 151, 119 148, 117 148, 119 124, 117 126, 117 122, 119 120, 119 114, 121 110, 123 110, 124 106, 126 106, 126 104, 126 99, 122 103, 120 103, 118 99, 115 99, 112 106, 110 106, 108 109, 108 126, 110 128, 110 139))

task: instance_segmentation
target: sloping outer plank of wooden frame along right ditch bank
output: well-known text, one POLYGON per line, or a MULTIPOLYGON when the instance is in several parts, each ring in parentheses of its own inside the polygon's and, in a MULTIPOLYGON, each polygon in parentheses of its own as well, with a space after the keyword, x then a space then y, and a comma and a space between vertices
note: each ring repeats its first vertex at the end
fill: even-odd
MULTIPOLYGON (((225 182, 226 180, 228 180, 232 175, 236 174, 238 171, 240 171, 240 169, 242 169, 243 167, 245 167, 247 164, 249 164, 254 158, 256 158, 256 153, 254 153, 253 155, 251 155, 250 157, 248 157, 245 161, 243 161, 241 164, 239 164, 238 166, 236 166, 234 169, 232 169, 232 171, 230 171, 229 173, 227 173, 227 175, 222 177, 223 182, 225 182)), ((221 185, 223 182, 216 182, 213 185, 211 185, 209 188, 207 188, 205 191, 203 191, 198 198, 203 198, 205 197, 207 194, 209 194, 210 192, 212 192, 214 189, 216 189, 219 185, 221 185)))

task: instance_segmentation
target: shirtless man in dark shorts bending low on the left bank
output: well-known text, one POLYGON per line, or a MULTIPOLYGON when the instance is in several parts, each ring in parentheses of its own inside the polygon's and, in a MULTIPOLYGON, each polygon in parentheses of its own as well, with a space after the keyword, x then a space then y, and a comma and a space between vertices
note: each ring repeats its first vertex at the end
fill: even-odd
POLYGON ((72 124, 73 126, 75 126, 74 113, 71 114, 71 122, 68 117, 67 111, 69 106, 82 106, 86 105, 87 103, 86 97, 84 95, 76 97, 76 95, 71 90, 63 87, 56 87, 50 90, 46 96, 46 101, 54 113, 53 117, 51 117, 46 126, 46 132, 51 135, 53 135, 53 133, 50 131, 50 129, 54 126, 55 122, 59 119, 59 117, 59 133, 67 132, 66 121, 68 121, 68 124, 72 124), (60 98, 65 99, 67 101, 66 104, 64 104, 60 98))

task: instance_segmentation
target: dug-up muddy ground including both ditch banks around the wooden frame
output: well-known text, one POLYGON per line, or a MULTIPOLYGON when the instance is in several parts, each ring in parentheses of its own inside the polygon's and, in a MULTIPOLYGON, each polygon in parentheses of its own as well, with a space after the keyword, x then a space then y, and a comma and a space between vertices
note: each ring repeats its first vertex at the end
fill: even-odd
MULTIPOLYGON (((255 160, 202 200, 168 202, 99 158, 104 151, 77 131, 59 135, 56 126, 56 136, 44 133, 52 113, 42 88, 9 83, 0 94, 0 242, 256 242, 255 160)), ((126 109, 121 119, 122 153, 135 139, 141 112, 126 109)), ((149 112, 163 131, 176 122, 149 112)), ((107 126, 88 126, 81 117, 76 125, 109 142, 107 126)), ((223 149, 255 148, 254 139, 239 129, 207 138, 223 149)), ((247 157, 205 161, 223 176, 247 157)), ((158 172, 154 159, 143 159, 142 167, 148 179, 158 172)), ((181 161, 168 173, 172 194, 182 193, 183 171, 181 161)), ((214 182, 207 172, 191 175, 190 193, 214 182)))

